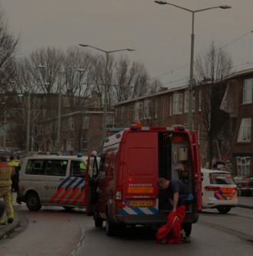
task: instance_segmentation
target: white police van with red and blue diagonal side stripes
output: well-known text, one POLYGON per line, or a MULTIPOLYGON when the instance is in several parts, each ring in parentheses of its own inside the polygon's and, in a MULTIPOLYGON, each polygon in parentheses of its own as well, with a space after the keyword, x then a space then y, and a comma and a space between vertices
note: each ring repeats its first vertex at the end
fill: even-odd
POLYGON ((30 211, 42 205, 65 209, 85 207, 87 157, 41 155, 25 157, 19 173, 17 200, 30 211))

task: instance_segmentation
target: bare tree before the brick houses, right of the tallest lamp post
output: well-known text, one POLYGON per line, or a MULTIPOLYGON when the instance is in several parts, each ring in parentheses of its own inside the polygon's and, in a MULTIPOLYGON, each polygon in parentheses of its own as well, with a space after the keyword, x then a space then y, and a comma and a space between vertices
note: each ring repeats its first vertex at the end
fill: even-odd
POLYGON ((226 89, 226 76, 231 72, 232 60, 224 49, 211 42, 210 48, 199 55, 195 63, 196 82, 200 84, 199 94, 201 119, 205 129, 202 130, 207 141, 207 161, 211 168, 215 157, 213 145, 221 136, 221 126, 229 116, 220 109, 226 89))

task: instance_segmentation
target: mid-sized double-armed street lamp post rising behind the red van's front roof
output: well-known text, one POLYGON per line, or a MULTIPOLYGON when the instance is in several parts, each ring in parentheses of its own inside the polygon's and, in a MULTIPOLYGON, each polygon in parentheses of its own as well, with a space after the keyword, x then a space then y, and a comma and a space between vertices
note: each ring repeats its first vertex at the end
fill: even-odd
POLYGON ((104 113, 103 113, 103 124, 102 124, 102 142, 105 140, 106 136, 106 116, 107 116, 107 109, 108 109, 108 55, 112 52, 122 52, 122 51, 130 51, 133 52, 135 49, 119 49, 119 50, 114 50, 114 51, 105 51, 102 49, 99 49, 97 47, 94 47, 92 45, 82 45, 79 44, 80 46, 83 47, 91 47, 93 49, 97 49, 98 51, 105 52, 106 59, 105 59, 105 103, 104 103, 104 113))

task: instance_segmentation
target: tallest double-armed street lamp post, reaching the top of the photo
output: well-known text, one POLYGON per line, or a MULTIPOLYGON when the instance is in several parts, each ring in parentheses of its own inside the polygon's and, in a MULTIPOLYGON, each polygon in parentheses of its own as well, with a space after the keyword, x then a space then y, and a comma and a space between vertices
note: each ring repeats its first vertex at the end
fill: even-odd
POLYGON ((215 6, 215 7, 210 7, 210 8, 203 8, 203 9, 198 9, 198 10, 190 10, 188 8, 184 8, 178 5, 174 5, 168 2, 163 2, 163 1, 155 1, 155 3, 157 3, 158 5, 172 5, 175 6, 177 8, 181 8, 187 12, 191 12, 192 14, 192 22, 191 22, 191 62, 190 62, 190 84, 189 84, 189 92, 188 92, 188 129, 190 131, 194 130, 194 125, 193 125, 193 120, 192 120, 192 105, 193 105, 193 68, 194 68, 194 42, 195 42, 195 34, 194 34, 194 15, 195 12, 203 12, 203 11, 207 11, 210 9, 214 9, 214 8, 222 8, 222 9, 227 9, 227 8, 231 8, 231 6, 228 5, 219 5, 219 6, 215 6))

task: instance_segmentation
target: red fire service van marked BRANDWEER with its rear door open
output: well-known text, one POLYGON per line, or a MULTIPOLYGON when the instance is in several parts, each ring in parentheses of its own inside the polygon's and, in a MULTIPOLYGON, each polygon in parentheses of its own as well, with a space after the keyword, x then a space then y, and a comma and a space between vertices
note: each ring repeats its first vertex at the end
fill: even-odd
POLYGON ((191 234, 201 211, 201 171, 197 133, 184 126, 135 124, 108 136, 99 167, 95 156, 88 158, 86 213, 93 214, 96 227, 106 222, 108 236, 125 226, 159 227, 171 208, 158 177, 182 180, 193 195, 182 225, 191 234))

